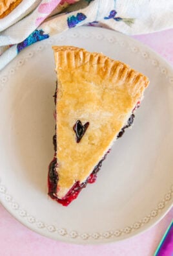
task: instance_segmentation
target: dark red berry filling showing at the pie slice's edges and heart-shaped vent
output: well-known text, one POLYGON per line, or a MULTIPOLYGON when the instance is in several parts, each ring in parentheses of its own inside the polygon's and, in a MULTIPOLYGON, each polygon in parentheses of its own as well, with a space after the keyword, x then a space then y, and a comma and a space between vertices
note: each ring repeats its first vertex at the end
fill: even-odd
MULTIPOLYGON (((57 99, 57 84, 56 84, 56 93, 54 95, 55 104, 56 104, 56 99, 57 99)), ((126 128, 128 128, 132 125, 132 123, 134 122, 134 117, 135 117, 134 111, 137 108, 139 108, 139 106, 140 106, 140 101, 137 102, 136 107, 132 111, 132 115, 130 116, 130 118, 127 121, 127 124, 121 129, 121 131, 117 135, 117 139, 124 134, 126 128)), ((74 129, 74 132, 76 132, 76 142, 77 143, 79 143, 79 141, 81 140, 81 138, 85 134, 85 132, 88 128, 88 125, 89 125, 89 122, 87 122, 86 124, 83 125, 83 124, 81 124, 81 121, 77 121, 76 124, 74 125, 73 129, 74 129)), ((58 174, 57 174, 57 170, 56 170, 57 169, 56 134, 53 137, 53 144, 54 144, 55 156, 54 156, 54 159, 51 161, 51 163, 48 167, 48 195, 52 199, 56 200, 59 204, 67 206, 74 199, 77 198, 79 192, 81 192, 81 190, 87 186, 87 183, 94 183, 96 181, 97 172, 101 169, 101 165, 102 165, 103 161, 106 159, 107 154, 110 152, 110 150, 108 150, 107 154, 105 154, 105 156, 101 159, 101 161, 99 161, 99 163, 96 165, 96 167, 94 167, 94 170, 92 171, 90 176, 88 176, 88 178, 85 182, 79 183, 79 181, 76 181, 76 183, 67 192, 67 194, 62 199, 59 199, 59 198, 57 198, 57 182, 58 182, 59 178, 58 178, 58 174)))

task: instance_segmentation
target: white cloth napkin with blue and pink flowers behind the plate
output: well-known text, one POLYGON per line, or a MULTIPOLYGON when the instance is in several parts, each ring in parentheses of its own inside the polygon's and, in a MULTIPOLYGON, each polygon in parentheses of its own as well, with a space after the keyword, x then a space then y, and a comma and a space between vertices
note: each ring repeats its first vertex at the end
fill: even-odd
POLYGON ((173 1, 23 0, 0 19, 0 70, 32 43, 81 25, 130 35, 170 29, 173 1))

